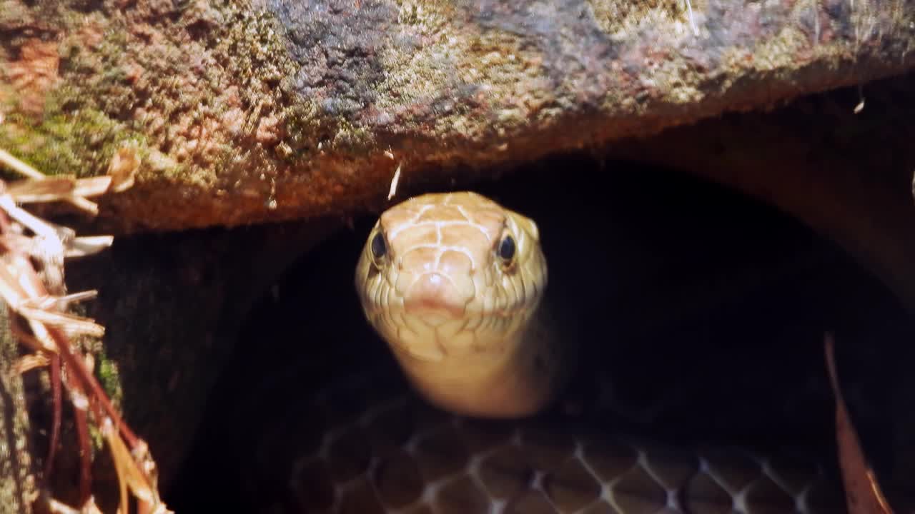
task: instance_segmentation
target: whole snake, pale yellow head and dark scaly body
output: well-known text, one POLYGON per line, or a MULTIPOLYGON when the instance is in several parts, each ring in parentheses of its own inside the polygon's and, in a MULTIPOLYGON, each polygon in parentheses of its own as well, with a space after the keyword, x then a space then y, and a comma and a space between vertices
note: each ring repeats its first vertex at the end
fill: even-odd
POLYGON ((581 354, 544 299, 540 240, 534 220, 471 191, 381 214, 355 288, 399 370, 366 369, 303 403, 307 426, 285 430, 308 442, 271 511, 845 512, 842 487, 814 460, 545 417, 568 408, 581 354))

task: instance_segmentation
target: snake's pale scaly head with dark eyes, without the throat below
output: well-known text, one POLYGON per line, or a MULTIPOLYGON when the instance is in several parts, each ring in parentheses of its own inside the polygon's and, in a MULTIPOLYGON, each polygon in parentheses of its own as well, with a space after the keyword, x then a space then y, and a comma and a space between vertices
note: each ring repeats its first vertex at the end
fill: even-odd
POLYGON ((476 193, 427 194, 372 228, 356 289, 372 327, 414 359, 506 352, 540 302, 536 223, 476 193))

